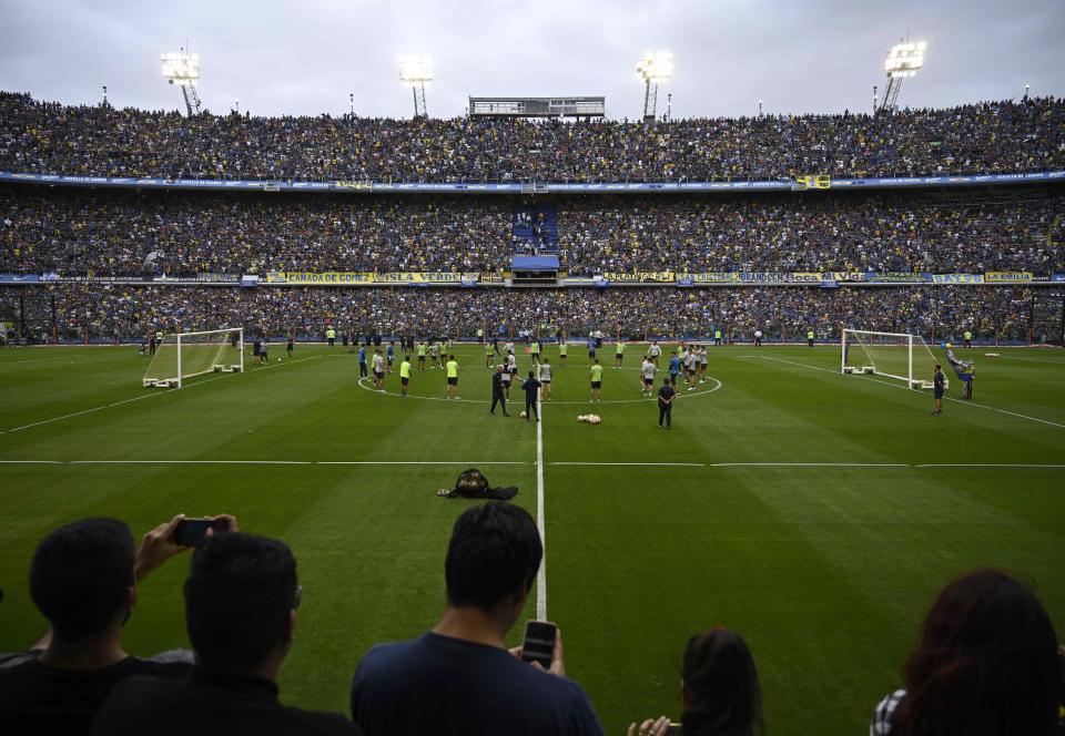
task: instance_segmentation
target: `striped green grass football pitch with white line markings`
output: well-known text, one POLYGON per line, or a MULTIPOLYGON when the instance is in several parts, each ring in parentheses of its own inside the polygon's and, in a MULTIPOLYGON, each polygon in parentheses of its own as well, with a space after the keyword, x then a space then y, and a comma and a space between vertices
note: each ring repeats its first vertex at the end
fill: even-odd
MULTIPOLYGON (((471 502, 435 491, 470 466, 541 520, 546 599, 528 615, 546 604, 608 733, 679 715, 680 654, 714 625, 750 643, 772 733, 865 733, 937 589, 977 565, 1022 575, 1065 633, 1062 351, 961 350, 974 401, 933 417, 929 391, 839 375, 838 347, 710 348, 711 380, 681 391, 667 432, 637 388, 640 350, 589 405, 571 347, 539 432, 517 401, 488 416, 477 346, 457 349, 460 401, 439 370, 415 371, 407 399, 396 375, 367 390, 341 347, 278 361, 275 346, 268 368, 248 358, 176 390, 141 388, 134 348, 0 351, 0 651, 45 627, 27 577, 49 530, 113 515, 140 535, 227 512, 298 560, 283 699, 346 712, 362 654, 443 609, 450 525, 471 502), (589 411, 602 423, 577 422, 589 411)), ((176 559, 144 581, 130 652, 187 645, 185 573, 176 559)))

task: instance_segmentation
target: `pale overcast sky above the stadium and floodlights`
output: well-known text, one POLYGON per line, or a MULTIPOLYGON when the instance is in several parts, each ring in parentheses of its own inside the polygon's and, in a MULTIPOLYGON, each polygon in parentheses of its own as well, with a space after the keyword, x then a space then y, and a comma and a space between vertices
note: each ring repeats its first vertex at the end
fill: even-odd
POLYGON ((252 114, 409 116, 396 59, 425 53, 432 116, 469 95, 606 95, 638 117, 636 62, 676 59, 674 117, 868 111, 910 29, 926 68, 900 104, 1065 95, 1065 0, 0 0, 0 89, 64 103, 176 109, 159 70, 189 39, 204 106, 252 114))

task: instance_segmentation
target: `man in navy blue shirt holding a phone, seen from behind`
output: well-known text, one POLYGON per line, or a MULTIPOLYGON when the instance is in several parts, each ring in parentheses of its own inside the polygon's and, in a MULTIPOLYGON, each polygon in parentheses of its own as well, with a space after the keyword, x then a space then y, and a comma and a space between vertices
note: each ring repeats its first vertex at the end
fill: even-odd
POLYGON ((352 719, 374 734, 602 734, 565 677, 561 635, 544 671, 508 652, 544 556, 536 523, 510 503, 467 509, 447 549, 447 609, 419 638, 372 648, 352 684, 352 719))

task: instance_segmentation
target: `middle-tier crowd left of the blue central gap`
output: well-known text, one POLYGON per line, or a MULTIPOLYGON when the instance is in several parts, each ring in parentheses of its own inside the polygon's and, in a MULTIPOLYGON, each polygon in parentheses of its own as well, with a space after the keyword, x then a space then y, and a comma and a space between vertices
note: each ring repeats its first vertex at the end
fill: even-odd
POLYGON ((505 203, 0 188, 0 272, 500 270, 505 203))

